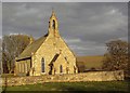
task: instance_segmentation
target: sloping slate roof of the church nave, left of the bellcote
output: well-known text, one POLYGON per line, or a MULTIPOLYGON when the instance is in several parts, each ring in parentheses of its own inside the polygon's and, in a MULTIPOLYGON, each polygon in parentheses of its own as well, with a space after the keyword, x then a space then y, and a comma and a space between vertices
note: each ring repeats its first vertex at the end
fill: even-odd
POLYGON ((23 59, 31 56, 31 53, 36 53, 36 51, 39 49, 39 46, 44 42, 47 39, 47 36, 42 36, 38 40, 34 41, 27 48, 22 52, 22 54, 16 59, 23 59))

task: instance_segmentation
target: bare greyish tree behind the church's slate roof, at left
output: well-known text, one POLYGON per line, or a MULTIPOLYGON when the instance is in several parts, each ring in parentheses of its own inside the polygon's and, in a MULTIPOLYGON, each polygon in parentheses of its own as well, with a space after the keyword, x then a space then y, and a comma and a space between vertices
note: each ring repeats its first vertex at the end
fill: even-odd
POLYGON ((10 35, 2 38, 2 65, 3 72, 13 72, 15 57, 29 44, 32 37, 27 35, 10 35))

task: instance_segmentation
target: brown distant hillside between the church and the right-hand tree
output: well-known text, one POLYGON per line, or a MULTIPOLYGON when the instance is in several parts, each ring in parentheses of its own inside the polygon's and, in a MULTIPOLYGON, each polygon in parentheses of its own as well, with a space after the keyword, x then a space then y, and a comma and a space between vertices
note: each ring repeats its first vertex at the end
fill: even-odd
POLYGON ((84 69, 101 69, 103 56, 77 56, 77 66, 80 71, 84 69))

